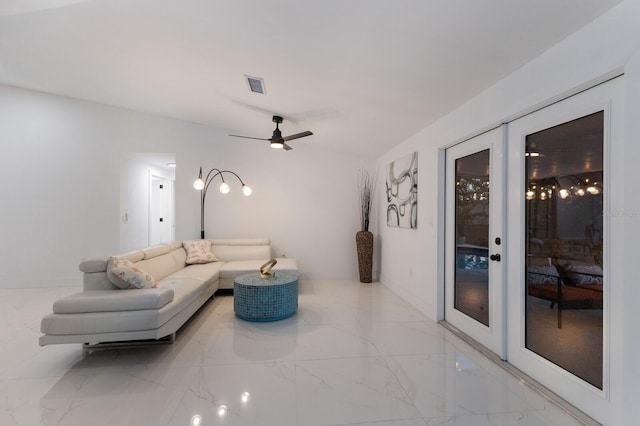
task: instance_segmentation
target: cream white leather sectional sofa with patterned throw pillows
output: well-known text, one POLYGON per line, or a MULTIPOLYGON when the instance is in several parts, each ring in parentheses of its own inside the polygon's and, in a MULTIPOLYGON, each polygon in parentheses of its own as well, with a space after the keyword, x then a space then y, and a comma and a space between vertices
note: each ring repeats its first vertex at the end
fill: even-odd
MULTIPOLYGON (((173 341, 175 332, 219 289, 233 289, 233 279, 258 272, 272 258, 268 239, 211 240, 219 259, 185 263, 182 242, 162 244, 116 256, 132 262, 157 281, 156 288, 122 290, 110 259, 80 263, 83 291, 57 300, 41 322, 40 345, 173 341), (111 275, 109 275, 111 274, 111 275)), ((298 271, 295 260, 278 259, 274 271, 298 271)))

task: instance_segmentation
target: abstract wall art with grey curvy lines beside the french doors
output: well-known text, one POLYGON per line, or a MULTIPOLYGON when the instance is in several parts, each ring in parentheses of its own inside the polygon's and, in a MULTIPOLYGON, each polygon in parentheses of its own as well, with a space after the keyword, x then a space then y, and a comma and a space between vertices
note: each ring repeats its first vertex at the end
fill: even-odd
POLYGON ((418 228, 418 153, 387 166, 387 226, 418 228))

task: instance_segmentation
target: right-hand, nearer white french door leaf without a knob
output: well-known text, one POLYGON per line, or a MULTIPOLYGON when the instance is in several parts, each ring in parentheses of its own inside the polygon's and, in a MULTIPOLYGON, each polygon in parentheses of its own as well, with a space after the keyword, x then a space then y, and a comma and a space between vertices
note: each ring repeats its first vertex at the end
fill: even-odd
POLYGON ((622 256, 611 242, 624 230, 606 212, 624 187, 610 142, 621 80, 508 124, 508 361, 599 421, 613 418, 611 284, 622 256))

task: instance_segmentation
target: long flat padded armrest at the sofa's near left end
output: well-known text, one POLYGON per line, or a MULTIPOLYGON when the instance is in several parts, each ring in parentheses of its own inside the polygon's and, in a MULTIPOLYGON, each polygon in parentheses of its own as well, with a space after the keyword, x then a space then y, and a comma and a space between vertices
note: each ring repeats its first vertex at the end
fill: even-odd
POLYGON ((83 312, 119 312, 139 309, 160 309, 173 300, 169 288, 149 288, 140 291, 90 290, 57 300, 56 314, 83 312))

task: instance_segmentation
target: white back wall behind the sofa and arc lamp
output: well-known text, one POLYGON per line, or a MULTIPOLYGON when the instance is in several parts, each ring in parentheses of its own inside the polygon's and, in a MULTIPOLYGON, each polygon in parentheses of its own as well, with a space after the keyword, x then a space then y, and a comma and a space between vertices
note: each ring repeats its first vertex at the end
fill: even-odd
POLYGON ((304 277, 357 276, 355 182, 371 159, 307 151, 304 140, 261 150, 220 129, 8 86, 0 117, 0 288, 79 285, 83 258, 119 252, 126 152, 176 153, 176 239, 200 236, 200 164, 229 168, 255 194, 234 198, 233 182, 229 197, 210 191, 208 236, 271 238, 304 277))

